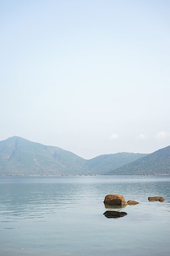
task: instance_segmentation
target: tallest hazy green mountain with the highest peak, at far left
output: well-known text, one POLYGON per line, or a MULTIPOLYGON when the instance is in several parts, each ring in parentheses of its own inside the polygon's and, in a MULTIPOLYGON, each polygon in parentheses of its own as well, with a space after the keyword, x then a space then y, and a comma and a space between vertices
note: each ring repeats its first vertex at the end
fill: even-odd
POLYGON ((81 173, 85 159, 69 151, 20 137, 0 141, 1 174, 81 173))

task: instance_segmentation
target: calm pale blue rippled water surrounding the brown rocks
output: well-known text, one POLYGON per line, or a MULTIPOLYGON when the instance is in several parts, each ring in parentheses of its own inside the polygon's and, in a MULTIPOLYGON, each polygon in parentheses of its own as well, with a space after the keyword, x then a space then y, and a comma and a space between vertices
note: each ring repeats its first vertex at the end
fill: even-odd
POLYGON ((169 256, 170 176, 0 177, 0 227, 0 256, 169 256), (108 219, 110 193, 139 204, 108 219))

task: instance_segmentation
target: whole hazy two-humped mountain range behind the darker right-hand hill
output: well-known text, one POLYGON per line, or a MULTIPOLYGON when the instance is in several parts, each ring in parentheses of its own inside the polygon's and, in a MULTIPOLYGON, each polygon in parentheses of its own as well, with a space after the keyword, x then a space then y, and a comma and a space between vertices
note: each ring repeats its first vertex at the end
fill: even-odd
POLYGON ((117 153, 86 160, 62 148, 14 136, 0 141, 0 175, 102 174, 145 155, 117 153))

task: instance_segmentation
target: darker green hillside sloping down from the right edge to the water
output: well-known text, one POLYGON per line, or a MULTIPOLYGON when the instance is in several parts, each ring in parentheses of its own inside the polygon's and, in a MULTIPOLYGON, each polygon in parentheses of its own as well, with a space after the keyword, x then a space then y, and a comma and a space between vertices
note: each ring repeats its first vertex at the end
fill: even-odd
POLYGON ((170 146, 105 174, 170 174, 170 146))

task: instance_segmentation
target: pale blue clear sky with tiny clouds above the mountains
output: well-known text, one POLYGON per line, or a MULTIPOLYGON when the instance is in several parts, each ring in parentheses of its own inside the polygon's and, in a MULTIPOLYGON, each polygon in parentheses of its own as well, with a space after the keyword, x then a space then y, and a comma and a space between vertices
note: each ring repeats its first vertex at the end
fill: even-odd
POLYGON ((90 159, 170 145, 170 0, 0 0, 0 141, 90 159))

